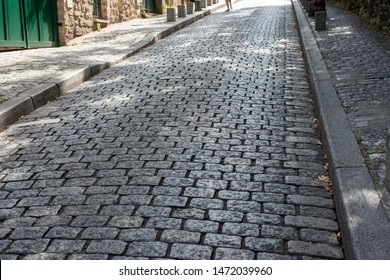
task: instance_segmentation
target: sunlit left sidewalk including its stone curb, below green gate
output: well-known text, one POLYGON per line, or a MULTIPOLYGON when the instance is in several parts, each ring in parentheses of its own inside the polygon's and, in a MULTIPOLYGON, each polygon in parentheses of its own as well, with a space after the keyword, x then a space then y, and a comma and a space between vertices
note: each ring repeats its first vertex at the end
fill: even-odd
POLYGON ((91 76, 223 7, 220 1, 176 22, 161 15, 109 25, 60 48, 0 52, 0 131, 91 76))

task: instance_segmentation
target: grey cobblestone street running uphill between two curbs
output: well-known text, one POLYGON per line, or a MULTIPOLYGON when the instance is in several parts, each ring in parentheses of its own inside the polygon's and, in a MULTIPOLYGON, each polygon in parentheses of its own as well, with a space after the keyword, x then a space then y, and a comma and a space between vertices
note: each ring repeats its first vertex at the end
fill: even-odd
POLYGON ((0 133, 0 259, 343 259, 289 0, 246 0, 0 133))

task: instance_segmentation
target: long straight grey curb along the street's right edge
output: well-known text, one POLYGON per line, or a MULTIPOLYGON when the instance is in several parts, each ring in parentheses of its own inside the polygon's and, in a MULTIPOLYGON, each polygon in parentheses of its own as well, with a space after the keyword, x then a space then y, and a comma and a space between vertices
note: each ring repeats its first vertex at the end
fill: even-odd
POLYGON ((291 0, 330 160, 336 209, 347 259, 390 259, 390 223, 308 20, 291 0))

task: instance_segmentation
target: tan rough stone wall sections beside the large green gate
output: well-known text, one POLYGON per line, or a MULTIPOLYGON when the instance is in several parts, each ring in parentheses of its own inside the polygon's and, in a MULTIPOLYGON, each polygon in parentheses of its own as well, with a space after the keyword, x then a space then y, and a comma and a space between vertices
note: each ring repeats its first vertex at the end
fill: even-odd
MULTIPOLYGON (((107 23, 141 16, 142 0, 101 0, 101 19, 107 23)), ((96 29, 93 0, 57 0, 60 45, 96 29)))

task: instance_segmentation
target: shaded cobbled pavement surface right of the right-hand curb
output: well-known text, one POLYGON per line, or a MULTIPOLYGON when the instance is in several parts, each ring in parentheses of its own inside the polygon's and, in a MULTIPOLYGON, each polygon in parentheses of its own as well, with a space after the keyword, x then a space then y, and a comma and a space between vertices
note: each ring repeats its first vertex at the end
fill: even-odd
POLYGON ((390 197, 385 188, 390 40, 331 3, 327 12, 326 31, 315 31, 313 18, 310 24, 390 219, 390 197))

